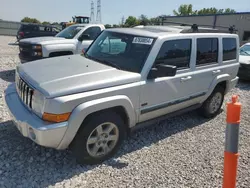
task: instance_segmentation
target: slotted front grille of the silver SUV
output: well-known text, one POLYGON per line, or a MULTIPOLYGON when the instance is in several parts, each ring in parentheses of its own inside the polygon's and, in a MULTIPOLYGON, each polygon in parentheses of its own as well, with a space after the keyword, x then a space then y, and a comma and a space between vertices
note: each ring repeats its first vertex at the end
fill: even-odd
POLYGON ((32 108, 33 89, 20 77, 16 80, 17 93, 22 102, 32 108))

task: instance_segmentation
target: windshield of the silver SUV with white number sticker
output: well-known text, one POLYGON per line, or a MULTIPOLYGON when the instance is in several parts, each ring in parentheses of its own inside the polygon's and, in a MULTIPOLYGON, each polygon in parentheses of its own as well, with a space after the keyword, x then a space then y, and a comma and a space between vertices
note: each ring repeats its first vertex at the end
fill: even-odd
POLYGON ((85 57, 140 73, 153 43, 154 38, 104 31, 90 46, 85 57))

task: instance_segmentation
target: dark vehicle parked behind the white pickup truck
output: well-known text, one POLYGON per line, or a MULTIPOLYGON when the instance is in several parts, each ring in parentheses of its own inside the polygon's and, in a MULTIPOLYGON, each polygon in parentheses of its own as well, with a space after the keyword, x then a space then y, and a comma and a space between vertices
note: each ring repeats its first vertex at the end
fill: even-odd
POLYGON ((17 31, 17 40, 33 37, 55 36, 60 30, 52 25, 22 24, 17 31))

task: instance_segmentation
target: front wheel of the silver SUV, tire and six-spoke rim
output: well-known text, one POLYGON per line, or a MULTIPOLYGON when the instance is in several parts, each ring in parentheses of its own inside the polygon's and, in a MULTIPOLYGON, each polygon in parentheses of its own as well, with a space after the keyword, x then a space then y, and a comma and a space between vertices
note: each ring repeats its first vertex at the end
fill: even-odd
POLYGON ((125 137, 126 128, 122 118, 113 111, 100 112, 91 115, 83 122, 70 148, 78 163, 100 164, 116 154, 125 137), (103 135, 98 134, 98 130, 101 133, 100 127, 102 127, 103 135), (112 129, 109 134, 107 134, 108 128, 112 129), (107 135, 109 135, 108 138, 107 135), (118 136, 116 141, 114 141, 115 135, 118 136), (90 137, 91 139, 89 139, 90 137), (110 140, 111 138, 113 140, 110 140), (97 150, 97 148, 99 149, 97 150), (110 151, 104 154, 104 148, 106 148, 106 151, 110 151), (97 151, 96 155, 95 151, 97 151))

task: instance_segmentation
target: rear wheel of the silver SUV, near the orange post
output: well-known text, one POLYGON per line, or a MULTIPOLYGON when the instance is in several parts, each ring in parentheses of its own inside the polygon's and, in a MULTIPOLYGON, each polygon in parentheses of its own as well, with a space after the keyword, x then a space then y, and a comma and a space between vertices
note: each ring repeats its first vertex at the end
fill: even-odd
POLYGON ((205 118, 213 118, 221 111, 221 106, 224 101, 225 89, 221 86, 216 86, 213 93, 202 104, 199 113, 205 118))

